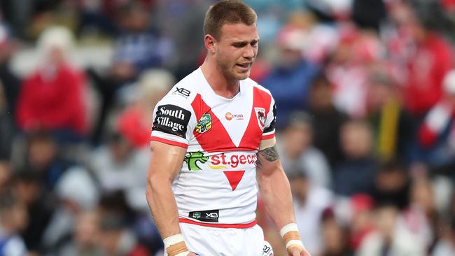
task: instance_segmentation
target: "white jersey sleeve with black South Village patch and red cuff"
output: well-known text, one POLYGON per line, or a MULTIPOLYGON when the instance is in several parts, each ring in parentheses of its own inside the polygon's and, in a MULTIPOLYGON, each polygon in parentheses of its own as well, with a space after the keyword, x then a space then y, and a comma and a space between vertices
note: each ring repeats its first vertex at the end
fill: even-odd
POLYGON ((181 97, 167 95, 155 106, 151 141, 188 148, 193 129, 195 113, 188 101, 181 97))

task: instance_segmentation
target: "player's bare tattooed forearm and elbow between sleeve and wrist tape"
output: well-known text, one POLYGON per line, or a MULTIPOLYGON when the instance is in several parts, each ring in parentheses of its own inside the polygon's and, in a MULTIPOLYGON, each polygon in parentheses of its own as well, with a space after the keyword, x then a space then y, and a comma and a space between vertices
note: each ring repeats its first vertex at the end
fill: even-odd
POLYGON ((260 150, 256 164, 260 197, 276 227, 295 222, 289 181, 275 146, 260 150))

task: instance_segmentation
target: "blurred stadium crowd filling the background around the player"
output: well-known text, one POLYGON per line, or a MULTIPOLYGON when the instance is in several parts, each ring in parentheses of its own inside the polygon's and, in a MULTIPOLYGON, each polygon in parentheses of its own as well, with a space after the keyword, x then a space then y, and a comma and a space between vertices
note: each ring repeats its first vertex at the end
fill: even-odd
MULTIPOLYGON (((162 255, 152 110, 214 2, 0 1, 0 255, 162 255)), ((455 1, 245 2, 310 253, 455 255, 455 1)))

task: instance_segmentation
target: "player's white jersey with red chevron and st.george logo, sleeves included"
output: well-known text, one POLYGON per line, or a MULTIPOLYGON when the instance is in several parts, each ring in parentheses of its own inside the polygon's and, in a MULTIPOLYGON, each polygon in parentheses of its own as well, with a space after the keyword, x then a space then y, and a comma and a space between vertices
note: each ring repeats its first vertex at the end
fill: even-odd
POLYGON ((201 69, 177 83, 154 110, 152 141, 187 148, 172 184, 180 222, 253 227, 256 153, 274 138, 274 100, 247 78, 232 99, 211 89, 201 69))

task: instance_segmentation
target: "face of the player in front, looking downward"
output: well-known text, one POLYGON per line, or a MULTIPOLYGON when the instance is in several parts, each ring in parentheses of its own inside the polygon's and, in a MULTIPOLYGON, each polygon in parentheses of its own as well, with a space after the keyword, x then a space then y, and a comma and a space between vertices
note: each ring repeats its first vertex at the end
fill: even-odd
POLYGON ((258 29, 255 24, 224 24, 221 36, 215 43, 215 58, 218 69, 225 78, 244 80, 248 78, 256 55, 258 55, 258 29))

